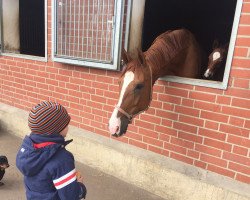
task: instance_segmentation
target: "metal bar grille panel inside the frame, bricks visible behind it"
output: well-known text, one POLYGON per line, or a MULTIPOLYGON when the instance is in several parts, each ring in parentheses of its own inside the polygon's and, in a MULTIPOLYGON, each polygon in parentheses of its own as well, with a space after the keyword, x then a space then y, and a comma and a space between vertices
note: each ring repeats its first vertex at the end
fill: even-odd
POLYGON ((56 1, 59 57, 111 63, 115 0, 56 1))

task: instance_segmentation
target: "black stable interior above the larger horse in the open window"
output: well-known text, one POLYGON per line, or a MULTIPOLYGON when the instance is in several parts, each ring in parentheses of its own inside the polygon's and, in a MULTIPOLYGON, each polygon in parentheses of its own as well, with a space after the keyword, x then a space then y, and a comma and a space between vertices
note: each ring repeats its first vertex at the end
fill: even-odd
MULTIPOLYGON (((230 41, 237 0, 146 0, 142 50, 167 30, 186 28, 196 37, 205 53, 212 52, 215 39, 230 41)), ((219 80, 222 80, 224 68, 219 80)))

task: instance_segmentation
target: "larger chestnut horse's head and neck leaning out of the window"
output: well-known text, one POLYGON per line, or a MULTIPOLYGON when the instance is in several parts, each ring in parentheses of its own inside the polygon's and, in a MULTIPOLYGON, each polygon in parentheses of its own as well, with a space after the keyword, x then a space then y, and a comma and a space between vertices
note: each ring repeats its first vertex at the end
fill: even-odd
POLYGON ((196 78, 203 64, 201 50, 186 29, 158 36, 146 52, 131 59, 124 51, 125 68, 119 80, 120 96, 109 120, 113 136, 126 133, 132 118, 149 107, 155 81, 165 75, 196 78))

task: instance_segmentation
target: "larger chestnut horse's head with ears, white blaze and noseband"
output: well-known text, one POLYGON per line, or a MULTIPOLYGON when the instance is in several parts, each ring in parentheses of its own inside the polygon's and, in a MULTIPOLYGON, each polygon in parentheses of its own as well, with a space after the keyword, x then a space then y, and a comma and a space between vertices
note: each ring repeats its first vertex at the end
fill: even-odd
POLYGON ((109 131, 121 136, 138 113, 149 107, 152 96, 152 69, 147 65, 143 53, 132 60, 125 50, 122 52, 124 68, 119 79, 120 97, 109 120, 109 131))

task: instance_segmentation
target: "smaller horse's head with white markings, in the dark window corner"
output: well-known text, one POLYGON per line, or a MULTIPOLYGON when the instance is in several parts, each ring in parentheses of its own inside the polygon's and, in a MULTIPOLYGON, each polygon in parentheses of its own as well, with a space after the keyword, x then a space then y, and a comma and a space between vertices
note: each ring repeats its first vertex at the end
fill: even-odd
POLYGON ((220 68, 225 67, 225 61, 227 58, 228 44, 219 45, 217 40, 213 43, 213 51, 208 57, 208 66, 204 72, 204 78, 214 79, 216 72, 220 68))

